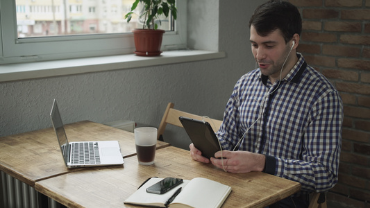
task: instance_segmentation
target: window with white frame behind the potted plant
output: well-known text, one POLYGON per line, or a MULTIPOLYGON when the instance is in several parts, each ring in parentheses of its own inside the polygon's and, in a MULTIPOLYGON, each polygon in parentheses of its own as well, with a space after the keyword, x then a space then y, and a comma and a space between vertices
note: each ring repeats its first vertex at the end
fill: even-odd
MULTIPOLYGON (((133 53, 131 30, 139 23, 124 19, 132 2, 0 0, 0 64, 133 53)), ((187 1, 176 4, 178 20, 166 28, 162 50, 187 44, 187 1)))

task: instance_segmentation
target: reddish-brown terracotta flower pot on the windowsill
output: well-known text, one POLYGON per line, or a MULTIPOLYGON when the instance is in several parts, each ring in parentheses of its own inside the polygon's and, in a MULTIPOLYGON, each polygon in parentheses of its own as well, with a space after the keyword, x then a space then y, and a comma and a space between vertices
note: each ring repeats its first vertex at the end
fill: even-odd
POLYGON ((135 29, 133 37, 135 40, 136 55, 140 56, 156 56, 160 55, 160 46, 162 46, 162 37, 165 31, 135 29))

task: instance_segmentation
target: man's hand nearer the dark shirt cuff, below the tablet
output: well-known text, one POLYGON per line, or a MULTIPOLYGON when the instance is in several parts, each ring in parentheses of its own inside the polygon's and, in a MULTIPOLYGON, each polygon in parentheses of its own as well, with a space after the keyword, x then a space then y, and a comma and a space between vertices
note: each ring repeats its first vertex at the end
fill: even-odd
POLYGON ((224 169, 226 172, 230 173, 249 173, 252 171, 263 171, 264 163, 266 157, 264 155, 258 153, 251 153, 247 151, 222 151, 221 159, 221 151, 215 153, 216 158, 211 158, 212 164, 217 166, 218 168, 224 169), (224 162, 224 166, 222 165, 224 162))

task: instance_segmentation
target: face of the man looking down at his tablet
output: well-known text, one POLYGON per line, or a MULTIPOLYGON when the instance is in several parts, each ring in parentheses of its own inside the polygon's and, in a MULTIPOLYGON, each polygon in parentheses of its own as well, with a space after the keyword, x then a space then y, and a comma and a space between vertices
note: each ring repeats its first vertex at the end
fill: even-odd
MULTIPOLYGON (((252 53, 260 67, 261 73, 264 76, 269 76, 270 80, 274 83, 274 80, 280 78, 280 70, 283 67, 287 55, 289 55, 291 45, 289 42, 285 44, 285 40, 279 29, 262 37, 258 35, 253 25, 251 26, 250 41, 252 53)), ((283 69, 285 75, 287 72, 286 69, 283 69)))

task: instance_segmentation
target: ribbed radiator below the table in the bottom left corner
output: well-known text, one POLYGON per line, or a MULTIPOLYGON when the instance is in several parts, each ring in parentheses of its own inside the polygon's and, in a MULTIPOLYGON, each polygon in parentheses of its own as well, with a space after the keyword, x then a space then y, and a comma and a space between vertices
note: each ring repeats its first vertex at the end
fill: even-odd
POLYGON ((4 208, 37 208, 37 207, 64 207, 51 198, 41 202, 41 193, 24 182, 0 171, 0 207, 4 208), (46 206, 45 206, 46 204, 46 206))

